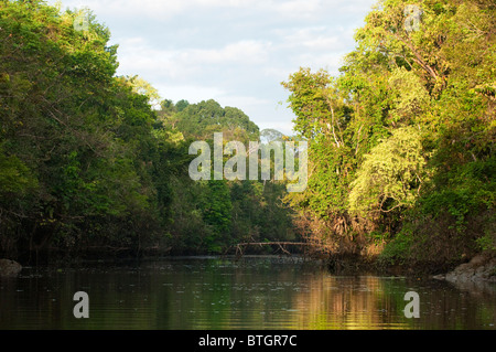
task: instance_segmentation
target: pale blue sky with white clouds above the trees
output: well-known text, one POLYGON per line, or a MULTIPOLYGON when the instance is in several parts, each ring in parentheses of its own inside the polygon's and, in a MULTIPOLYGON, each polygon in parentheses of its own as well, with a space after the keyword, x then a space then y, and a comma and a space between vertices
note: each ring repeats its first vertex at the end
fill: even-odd
POLYGON ((162 98, 215 99, 261 129, 291 134, 281 86, 299 67, 336 74, 377 0, 62 0, 89 8, 119 44, 119 75, 139 75, 162 98))

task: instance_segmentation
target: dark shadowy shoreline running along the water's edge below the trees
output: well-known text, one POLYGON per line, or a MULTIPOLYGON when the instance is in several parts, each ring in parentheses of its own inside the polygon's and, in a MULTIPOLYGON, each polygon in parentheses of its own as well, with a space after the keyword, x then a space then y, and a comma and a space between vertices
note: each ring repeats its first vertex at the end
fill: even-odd
MULTIPOLYGON (((36 253, 24 253, 18 258, 13 258, 15 262, 25 267, 37 266, 64 266, 64 267, 80 267, 84 265, 140 265, 142 263, 159 262, 159 260, 174 260, 183 258, 227 258, 238 259, 241 257, 263 257, 271 256, 283 259, 301 259, 328 270, 335 275, 378 275, 378 276, 407 276, 407 277, 430 277, 438 279, 457 279, 462 277, 464 280, 470 280, 471 273, 475 273, 477 263, 484 262, 493 265, 494 268, 486 268, 486 277, 488 280, 496 281, 496 255, 495 254, 479 254, 473 258, 466 258, 465 260, 445 263, 435 260, 411 260, 409 263, 389 264, 384 263, 377 257, 365 258, 359 255, 326 255, 315 256, 308 255, 305 253, 291 253, 291 254, 274 254, 263 253, 261 250, 252 250, 238 256, 234 253, 225 254, 212 254, 201 252, 180 252, 172 253, 170 250, 141 250, 136 253, 132 250, 86 250, 86 252, 64 252, 61 249, 47 249, 36 253), (484 260, 481 260, 481 257, 484 260), (471 259, 471 260, 468 260, 471 259), (470 263, 476 263, 471 265, 470 263), (463 268, 472 270, 466 273, 463 268), (490 273, 492 271, 492 273, 490 273), (488 273, 488 275, 487 275, 488 273)), ((0 258, 2 258, 0 256, 0 258)), ((4 258, 9 258, 6 256, 4 258)))

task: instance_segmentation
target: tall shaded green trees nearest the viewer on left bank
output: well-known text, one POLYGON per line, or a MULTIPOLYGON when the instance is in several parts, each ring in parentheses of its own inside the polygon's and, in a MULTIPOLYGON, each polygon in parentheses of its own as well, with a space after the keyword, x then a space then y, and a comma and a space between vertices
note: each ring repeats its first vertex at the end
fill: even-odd
POLYGON ((84 35, 72 24, 41 1, 0 7, 0 230, 7 236, 22 233, 42 244, 54 233, 109 239, 114 234, 103 228, 126 216, 137 225, 141 220, 132 217, 153 198, 141 158, 153 145, 154 114, 145 97, 114 77, 108 31, 94 19, 84 35))

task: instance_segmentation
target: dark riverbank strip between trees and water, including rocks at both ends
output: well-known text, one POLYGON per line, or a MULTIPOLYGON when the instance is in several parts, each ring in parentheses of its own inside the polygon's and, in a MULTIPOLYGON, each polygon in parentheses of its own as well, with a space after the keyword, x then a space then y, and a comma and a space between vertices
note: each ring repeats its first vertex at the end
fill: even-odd
MULTIPOLYGON (((31 255, 29 257, 19 258, 19 263, 8 259, 0 259, 6 265, 0 267, 0 275, 2 271, 6 275, 15 276, 19 274, 22 266, 80 266, 91 263, 105 263, 105 264, 122 264, 130 262, 153 262, 164 258, 184 258, 184 257, 239 257, 233 254, 208 254, 208 253, 186 253, 186 254, 171 254, 170 252, 141 252, 139 254, 130 250, 91 250, 85 252, 79 255, 71 255, 62 252, 39 253, 37 255, 31 255), (7 265, 9 264, 9 265, 7 265), (11 270, 14 268, 15 273, 11 270)), ((250 255, 250 254, 247 254, 250 255)), ((263 256, 268 253, 255 253, 251 255, 263 256)), ((496 255, 484 253, 474 256, 466 263, 445 263, 435 260, 417 260, 417 262, 402 262, 402 263, 385 263, 379 257, 364 257, 360 255, 327 255, 327 256, 309 256, 304 253, 284 253, 272 254, 273 256, 288 257, 288 258, 304 258, 304 260, 313 262, 315 265, 325 267, 330 273, 336 275, 386 275, 386 276, 422 276, 433 277, 440 280, 446 280, 451 282, 467 282, 467 281, 487 281, 496 282, 496 255)), ((244 255, 246 256, 246 255, 244 255)), ((3 276, 6 276, 3 275, 3 276)))

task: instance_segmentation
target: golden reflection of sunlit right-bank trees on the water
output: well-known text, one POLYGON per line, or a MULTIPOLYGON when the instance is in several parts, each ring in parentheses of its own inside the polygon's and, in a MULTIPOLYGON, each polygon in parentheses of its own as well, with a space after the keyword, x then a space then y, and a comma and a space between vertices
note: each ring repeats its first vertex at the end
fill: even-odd
POLYGON ((312 277, 298 298, 300 329, 494 329, 495 292, 460 291, 446 282, 380 277, 312 277), (407 319, 406 292, 420 296, 420 318, 407 319), (482 322, 484 324, 482 326, 482 322), (493 326, 490 326, 493 324, 493 326), (493 327, 493 328, 492 328, 493 327))

